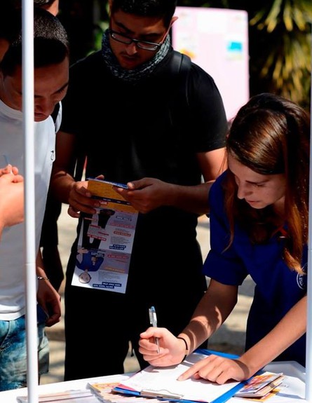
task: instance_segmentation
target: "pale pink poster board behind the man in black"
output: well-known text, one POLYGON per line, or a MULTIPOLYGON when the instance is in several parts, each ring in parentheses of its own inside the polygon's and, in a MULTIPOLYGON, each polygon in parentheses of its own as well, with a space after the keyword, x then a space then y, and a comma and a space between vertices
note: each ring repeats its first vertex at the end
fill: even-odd
POLYGON ((214 78, 226 116, 235 116, 249 99, 248 19, 246 11, 177 7, 172 45, 214 78))

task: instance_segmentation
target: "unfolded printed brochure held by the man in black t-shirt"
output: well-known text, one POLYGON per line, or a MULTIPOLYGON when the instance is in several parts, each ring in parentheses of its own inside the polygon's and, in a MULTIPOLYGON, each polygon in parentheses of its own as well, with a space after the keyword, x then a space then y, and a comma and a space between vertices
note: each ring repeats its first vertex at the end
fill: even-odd
POLYGON ((83 214, 72 285, 124 294, 138 212, 113 186, 127 189, 125 184, 88 180, 100 207, 96 214, 83 214))

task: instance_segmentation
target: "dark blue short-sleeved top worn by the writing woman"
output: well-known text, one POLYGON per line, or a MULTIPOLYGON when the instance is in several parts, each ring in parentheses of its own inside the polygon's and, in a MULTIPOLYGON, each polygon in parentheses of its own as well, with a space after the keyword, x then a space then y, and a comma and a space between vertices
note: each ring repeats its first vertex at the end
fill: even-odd
MULTIPOLYGON (((267 243, 253 245, 248 235, 235 226, 229 249, 229 221, 224 210, 222 174, 210 189, 210 247, 204 273, 225 285, 241 285, 247 275, 255 281, 255 295, 247 318, 246 350, 261 340, 306 294, 306 275, 290 270, 282 259, 283 239, 274 235, 267 243)), ((307 247, 302 267, 307 268, 307 247)), ((287 348, 276 360, 295 360, 305 366, 306 336, 287 348)))

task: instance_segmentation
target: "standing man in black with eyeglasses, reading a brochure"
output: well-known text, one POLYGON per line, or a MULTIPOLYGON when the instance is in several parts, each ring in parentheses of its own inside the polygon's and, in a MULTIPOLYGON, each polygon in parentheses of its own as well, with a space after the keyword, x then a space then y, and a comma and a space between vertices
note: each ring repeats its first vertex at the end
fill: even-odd
MULTIPOLYGON (((72 286, 77 240, 72 247, 66 381, 122 373, 129 343, 146 367, 138 341, 149 308, 155 306, 159 326, 178 334, 206 289, 196 225, 208 212, 209 182, 222 170, 227 122, 215 82, 195 64, 188 106, 180 99, 186 83, 172 71, 169 35, 175 6, 175 0, 110 0, 102 50, 71 68, 53 190, 72 217, 95 213, 88 182, 75 182, 72 173, 83 152, 86 178, 128 184, 116 191, 140 214, 125 294, 72 286), (78 335, 88 348, 77 351, 78 335)), ((79 231, 81 218, 78 225, 79 231)))

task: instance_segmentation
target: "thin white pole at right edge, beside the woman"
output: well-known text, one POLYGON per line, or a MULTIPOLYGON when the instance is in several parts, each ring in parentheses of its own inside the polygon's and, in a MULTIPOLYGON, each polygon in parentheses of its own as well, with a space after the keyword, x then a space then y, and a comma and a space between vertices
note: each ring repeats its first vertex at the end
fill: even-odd
MULTIPOLYGON (((311 76, 312 83, 312 76, 311 76)), ((310 89, 312 115, 312 86, 310 89)), ((312 127, 310 123, 310 177, 308 192, 308 307, 306 310, 306 400, 312 402, 312 127)))

